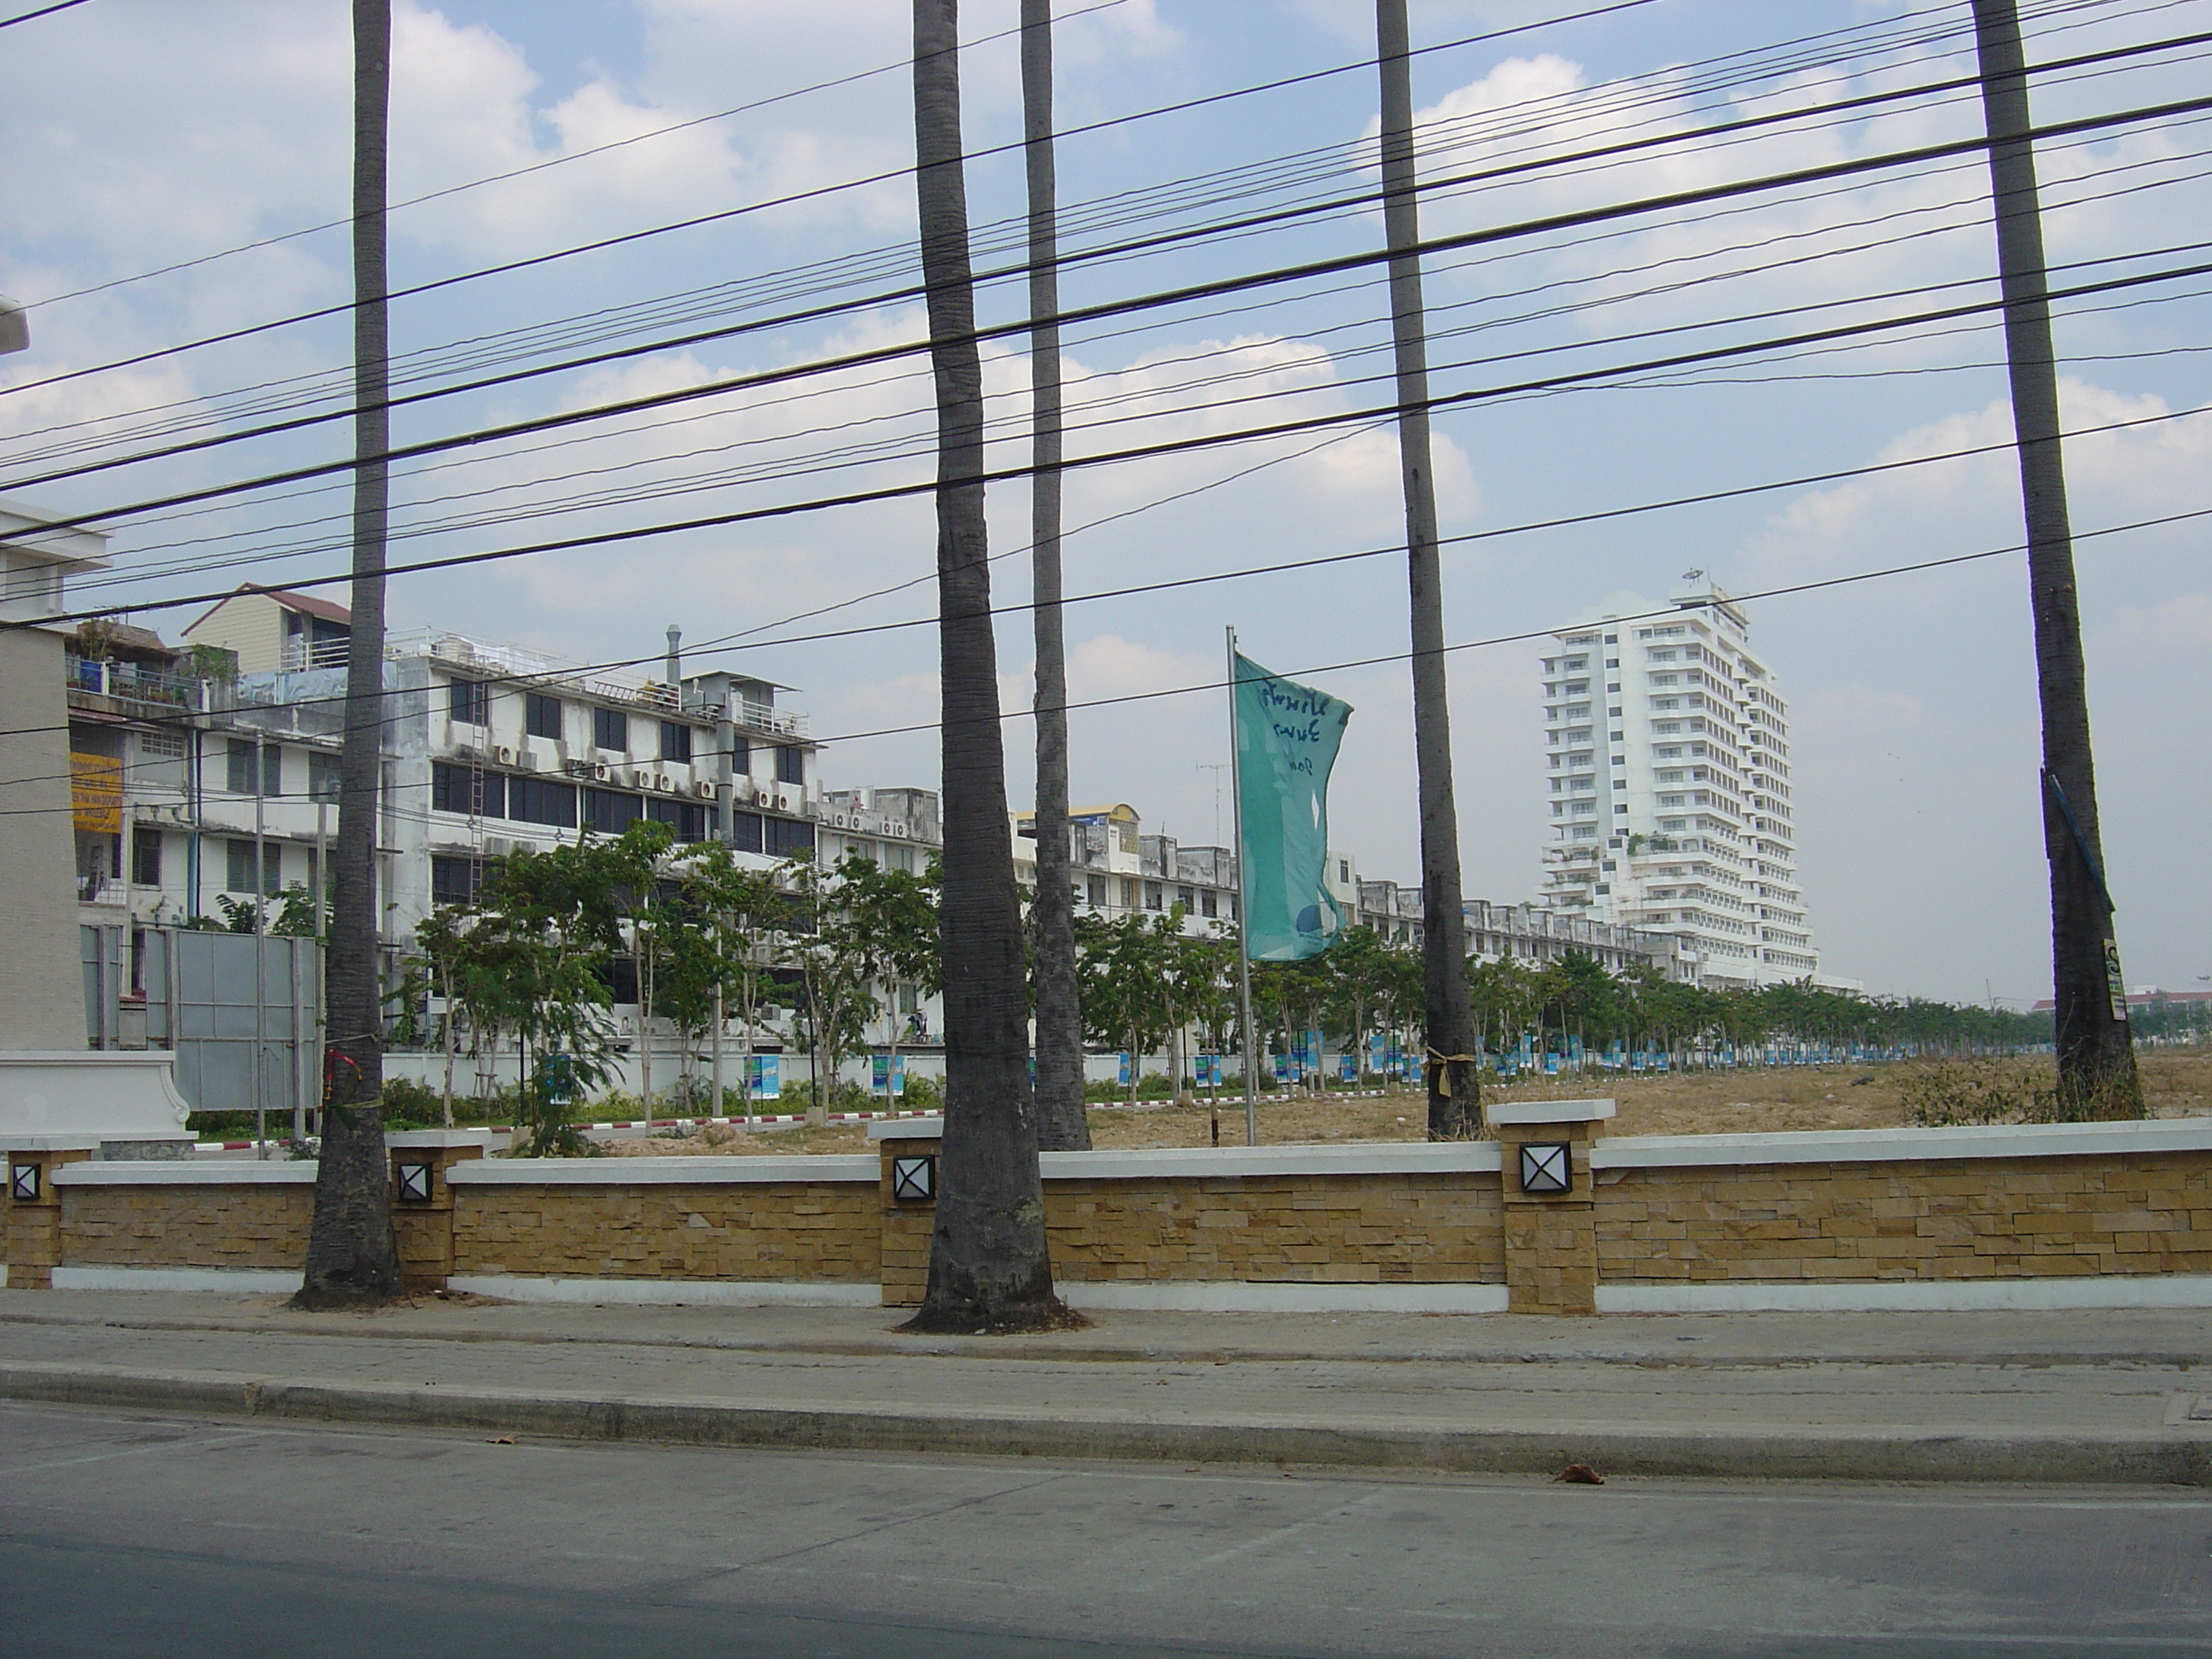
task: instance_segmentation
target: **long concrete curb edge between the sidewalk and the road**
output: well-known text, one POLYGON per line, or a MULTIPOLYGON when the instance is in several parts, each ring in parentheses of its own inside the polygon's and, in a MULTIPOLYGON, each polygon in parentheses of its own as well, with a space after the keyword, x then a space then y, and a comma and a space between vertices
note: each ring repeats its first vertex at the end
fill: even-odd
POLYGON ((1389 1418, 1161 1420, 1128 1411, 945 1411, 900 1405, 602 1398, 524 1389, 418 1389, 237 1371, 111 1365, 0 1367, 0 1398, 230 1418, 467 1429, 807 1451, 916 1451, 1161 1462, 1314 1464, 1708 1480, 1913 1480, 2112 1486, 2212 1484, 2212 1433, 1953 1433, 1933 1429, 1648 1429, 1557 1425, 1438 1429, 1389 1418))

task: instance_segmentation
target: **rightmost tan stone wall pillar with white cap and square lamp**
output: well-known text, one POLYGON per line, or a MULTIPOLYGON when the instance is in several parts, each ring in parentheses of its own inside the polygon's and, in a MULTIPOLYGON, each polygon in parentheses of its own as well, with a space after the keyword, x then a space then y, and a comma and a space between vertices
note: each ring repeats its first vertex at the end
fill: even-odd
POLYGON ((1590 1141, 1610 1099, 1515 1099, 1486 1108, 1504 1152, 1506 1310, 1597 1312, 1590 1141))

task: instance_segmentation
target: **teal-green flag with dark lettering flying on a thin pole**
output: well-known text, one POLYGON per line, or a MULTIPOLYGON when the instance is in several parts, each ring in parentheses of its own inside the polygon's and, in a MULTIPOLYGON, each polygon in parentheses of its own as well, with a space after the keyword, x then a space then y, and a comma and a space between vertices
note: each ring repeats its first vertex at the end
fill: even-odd
POLYGON ((1329 947, 1329 768, 1352 703, 1237 655, 1237 785, 1245 953, 1298 962, 1329 947))

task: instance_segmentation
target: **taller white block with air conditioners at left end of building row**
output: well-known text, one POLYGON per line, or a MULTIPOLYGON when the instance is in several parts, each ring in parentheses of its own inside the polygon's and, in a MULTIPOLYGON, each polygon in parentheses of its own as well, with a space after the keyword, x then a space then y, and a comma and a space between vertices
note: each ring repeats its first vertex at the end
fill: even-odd
MULTIPOLYGON (((122 626, 69 641, 82 922, 219 922, 223 898, 321 887, 343 628, 343 608, 254 588, 195 622, 184 648, 122 626)), ((465 900, 487 858, 639 818, 679 841, 726 838, 763 867, 812 852, 825 821, 814 741, 776 690, 684 675, 672 650, 653 677, 453 630, 392 637, 376 834, 387 951, 465 900)))

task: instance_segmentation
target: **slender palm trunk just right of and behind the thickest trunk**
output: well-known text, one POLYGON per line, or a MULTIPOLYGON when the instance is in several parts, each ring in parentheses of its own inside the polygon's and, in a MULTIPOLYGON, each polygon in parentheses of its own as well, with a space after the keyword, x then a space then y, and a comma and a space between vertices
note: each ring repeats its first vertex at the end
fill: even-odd
POLYGON ((1022 159, 1029 168, 1029 560, 1037 624, 1037 1146, 1091 1150, 1084 1011, 1068 860, 1068 657, 1060 626, 1060 206, 1053 179, 1053 0, 1022 0, 1022 159))

